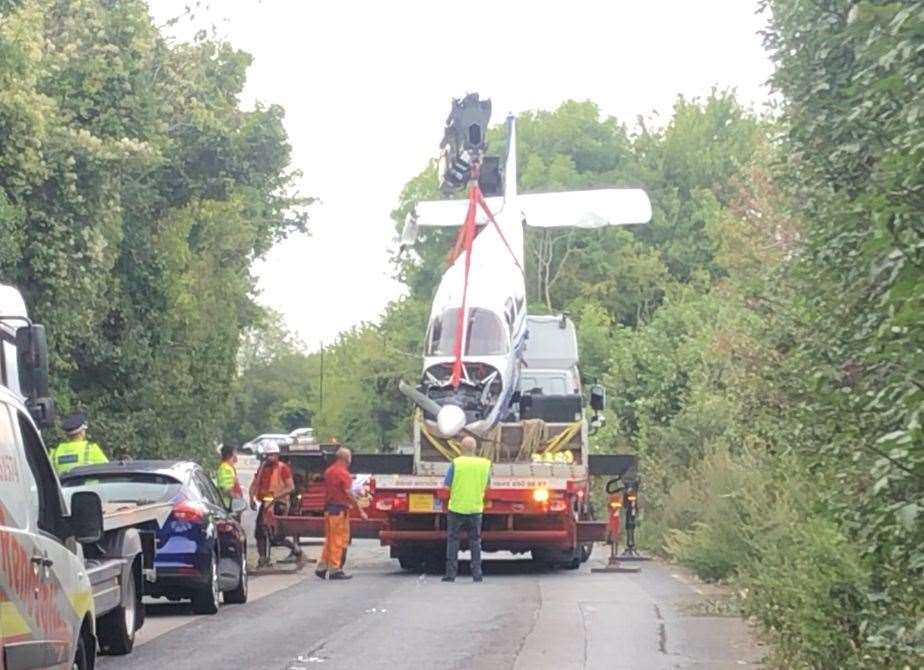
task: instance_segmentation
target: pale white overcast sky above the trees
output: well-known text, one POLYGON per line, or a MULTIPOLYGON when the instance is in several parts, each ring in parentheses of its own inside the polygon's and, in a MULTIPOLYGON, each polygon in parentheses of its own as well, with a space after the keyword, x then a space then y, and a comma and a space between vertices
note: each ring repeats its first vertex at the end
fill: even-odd
MULTIPOLYGON (((161 23, 194 4, 150 3, 161 23)), ((713 86, 761 109, 771 65, 756 10, 756 0, 212 0, 192 23, 254 56, 244 107, 285 108, 301 191, 321 200, 311 235, 258 265, 260 301, 310 349, 377 319, 401 294, 389 213, 437 155, 451 98, 468 91, 491 98, 495 122, 570 98, 632 126, 713 86)), ((191 34, 184 24, 176 34, 191 34)))

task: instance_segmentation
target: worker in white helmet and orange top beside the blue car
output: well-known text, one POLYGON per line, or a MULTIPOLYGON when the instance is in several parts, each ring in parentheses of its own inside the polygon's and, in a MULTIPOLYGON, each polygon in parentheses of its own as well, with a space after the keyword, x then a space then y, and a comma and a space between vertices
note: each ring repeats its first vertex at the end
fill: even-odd
MULTIPOLYGON (((302 550, 288 538, 276 538, 275 513, 279 509, 282 513, 288 510, 288 497, 295 490, 292 480, 292 469, 279 460, 279 445, 267 444, 263 448, 266 459, 250 484, 250 509, 257 509, 256 501, 260 501, 260 510, 257 512, 256 531, 254 539, 257 541, 257 552, 260 560, 257 567, 265 568, 270 565, 271 547, 280 544, 288 547, 289 559, 301 560, 302 550)), ((288 560, 288 559, 287 559, 288 560)))

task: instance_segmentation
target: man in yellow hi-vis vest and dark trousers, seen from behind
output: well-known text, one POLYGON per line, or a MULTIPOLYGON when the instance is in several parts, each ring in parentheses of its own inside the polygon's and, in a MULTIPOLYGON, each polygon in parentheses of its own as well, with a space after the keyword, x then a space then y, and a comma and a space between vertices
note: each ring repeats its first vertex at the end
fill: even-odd
POLYGON ((475 456, 475 438, 462 438, 462 455, 453 459, 443 485, 449 488, 449 513, 446 519, 446 576, 444 582, 456 581, 459 571, 459 533, 468 529, 472 550, 472 580, 481 576, 481 513, 484 492, 491 481, 491 461, 475 456))

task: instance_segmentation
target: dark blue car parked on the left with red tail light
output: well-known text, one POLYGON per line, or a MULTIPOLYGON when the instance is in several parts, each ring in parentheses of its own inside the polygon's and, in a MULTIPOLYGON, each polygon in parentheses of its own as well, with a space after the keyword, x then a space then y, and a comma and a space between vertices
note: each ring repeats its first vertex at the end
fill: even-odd
POLYGON ((156 581, 145 595, 190 599, 197 614, 247 602, 247 538, 215 484, 190 461, 127 461, 74 468, 64 487, 99 493, 104 504, 169 502, 173 512, 157 533, 156 581))

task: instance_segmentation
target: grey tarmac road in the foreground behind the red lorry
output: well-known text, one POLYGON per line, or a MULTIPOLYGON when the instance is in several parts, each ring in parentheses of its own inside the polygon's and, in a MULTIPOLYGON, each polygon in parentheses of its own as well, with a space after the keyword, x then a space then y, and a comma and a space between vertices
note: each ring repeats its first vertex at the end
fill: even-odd
MULTIPOLYGON (((316 556, 318 548, 308 547, 316 556)), ((671 566, 638 574, 539 571, 492 560, 485 581, 402 572, 374 541, 356 541, 354 579, 300 574, 251 581, 251 601, 195 617, 155 604, 130 656, 102 670, 319 668, 741 668, 761 650, 735 617, 711 616, 711 593, 671 566)), ((156 602, 156 601, 155 601, 156 602)))

